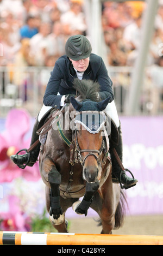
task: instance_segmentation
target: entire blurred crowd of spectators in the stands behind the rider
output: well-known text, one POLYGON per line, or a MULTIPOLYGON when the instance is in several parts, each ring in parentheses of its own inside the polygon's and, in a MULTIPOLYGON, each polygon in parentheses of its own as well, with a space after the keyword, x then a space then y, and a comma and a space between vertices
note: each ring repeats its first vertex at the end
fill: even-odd
MULTIPOLYGON (((0 0, 0 67, 53 67, 57 58, 65 54, 68 37, 73 34, 87 35, 84 8, 84 0, 0 0)), ((133 67, 141 42, 145 10, 146 3, 143 1, 102 1, 102 28, 108 66, 133 67)), ((163 88, 162 55, 163 0, 159 0, 147 59, 147 66, 156 69, 153 68, 148 75, 147 87, 153 81, 156 84, 157 79, 157 86, 163 88)), ((10 73, 10 82, 20 86, 24 75, 13 73, 15 77, 10 73)), ((46 86, 49 73, 45 72, 43 76, 46 86)), ((122 79, 119 82, 119 77, 114 81, 115 86, 116 82, 118 86, 123 84, 122 79)), ((125 76, 124 83, 126 79, 125 76)), ((161 95, 163 102, 163 92, 161 95)))

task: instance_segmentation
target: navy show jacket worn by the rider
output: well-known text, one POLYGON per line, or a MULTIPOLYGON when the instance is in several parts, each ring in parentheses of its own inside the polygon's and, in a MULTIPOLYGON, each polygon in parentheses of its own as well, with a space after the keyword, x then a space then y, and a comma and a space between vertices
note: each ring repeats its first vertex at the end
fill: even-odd
MULTIPOLYGON (((64 55, 56 62, 49 78, 43 104, 46 106, 54 106, 60 108, 61 97, 65 94, 74 93, 76 90, 72 88, 73 79, 77 78, 76 71, 72 66, 70 59, 64 55), (60 95, 57 95, 58 92, 60 95)), ((112 81, 108 76, 108 71, 105 67, 103 59, 98 55, 91 53, 89 66, 84 72, 83 79, 91 79, 98 82, 100 85, 99 95, 101 99, 106 99, 111 96, 111 101, 114 99, 112 91, 112 81)))

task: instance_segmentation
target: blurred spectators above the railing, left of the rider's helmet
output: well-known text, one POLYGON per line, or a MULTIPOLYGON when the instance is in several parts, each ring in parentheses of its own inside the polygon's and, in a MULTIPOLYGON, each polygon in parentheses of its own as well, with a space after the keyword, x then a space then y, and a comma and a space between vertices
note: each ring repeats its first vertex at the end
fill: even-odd
POLYGON ((0 0, 0 15, 0 66, 53 66, 86 31, 82 0, 0 0))

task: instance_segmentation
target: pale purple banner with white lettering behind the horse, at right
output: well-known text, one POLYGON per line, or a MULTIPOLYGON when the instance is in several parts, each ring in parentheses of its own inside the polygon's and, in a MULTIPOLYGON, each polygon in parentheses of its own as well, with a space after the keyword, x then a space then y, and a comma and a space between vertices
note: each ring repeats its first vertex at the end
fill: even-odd
POLYGON ((163 213, 163 117, 121 117, 123 165, 138 180, 126 190, 131 215, 163 213))

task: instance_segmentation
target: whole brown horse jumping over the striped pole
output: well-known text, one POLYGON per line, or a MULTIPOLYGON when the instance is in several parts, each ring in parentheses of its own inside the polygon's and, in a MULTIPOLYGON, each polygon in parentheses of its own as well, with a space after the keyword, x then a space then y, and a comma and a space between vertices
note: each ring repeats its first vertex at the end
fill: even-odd
POLYGON ((56 125, 41 145, 39 166, 46 184, 46 209, 59 233, 68 232, 65 213, 69 207, 85 216, 91 207, 98 213, 101 234, 112 234, 112 229, 123 224, 126 199, 111 178, 103 111, 110 98, 99 100, 99 84, 91 80, 75 79, 73 87, 78 97, 71 97, 61 123, 59 115, 54 118, 51 125, 56 125))

